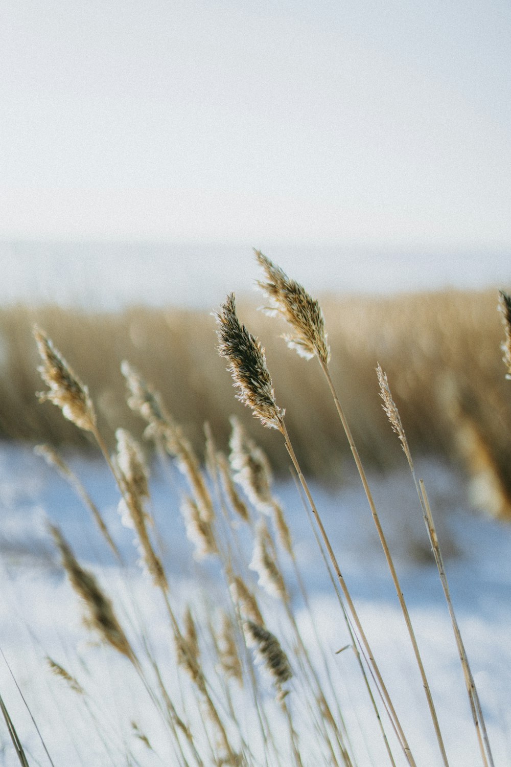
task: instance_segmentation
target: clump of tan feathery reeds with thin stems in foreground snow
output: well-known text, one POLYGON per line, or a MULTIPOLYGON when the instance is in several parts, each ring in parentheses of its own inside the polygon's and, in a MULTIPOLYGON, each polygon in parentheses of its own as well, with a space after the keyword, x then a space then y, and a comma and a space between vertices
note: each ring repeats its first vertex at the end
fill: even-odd
MULTIPOLYGON (((362 463, 329 374, 330 348, 319 302, 311 298, 299 283, 288 278, 266 256, 256 252, 256 257, 266 275, 266 281, 261 282, 260 287, 270 299, 270 310, 280 314, 292 326, 293 333, 287 337, 288 344, 296 349, 300 356, 317 357, 326 374, 379 530, 378 515, 367 486, 362 463)), ((507 311, 507 321, 509 321, 511 301, 504 299, 503 301, 507 311)), ((264 349, 257 337, 251 334, 237 318, 233 295, 228 296, 216 318, 218 349, 221 357, 228 362, 228 368, 237 388, 238 399, 250 407, 254 416, 264 426, 278 430, 283 436, 284 446, 310 504, 313 518, 319 529, 319 535, 316 534, 319 546, 322 554, 326 551, 325 559, 329 560, 337 578, 337 581, 332 578, 336 591, 337 584, 340 586, 339 603, 349 630, 349 645, 343 642, 342 646, 352 646, 359 658, 362 676, 364 676, 362 683, 367 686, 372 698, 375 713, 373 723, 377 720, 382 732, 388 761, 391 765, 396 763, 375 703, 375 698, 378 696, 388 715, 391 728, 395 732, 398 746, 402 749, 408 764, 414 767, 414 756, 411 754, 405 732, 395 712, 369 641, 365 636, 359 614, 346 581, 342 577, 329 536, 323 527, 319 511, 300 468, 287 430, 286 413, 277 405, 264 349)), ((355 749, 350 743, 349 731, 342 716, 342 707, 336 696, 335 685, 332 683, 332 689, 328 695, 323 690, 316 671, 316 657, 311 654, 310 647, 306 646, 293 613, 294 605, 290 598, 293 592, 290 591, 287 578, 284 578, 279 561, 280 547, 276 541, 280 542, 281 548, 287 551, 293 561, 296 584, 299 591, 303 593, 304 604, 306 604, 306 593, 303 582, 300 581, 300 563, 294 557, 293 542, 283 509, 273 494, 270 462, 265 453, 244 433, 240 423, 233 420, 230 463, 228 463, 224 454, 216 449, 212 430, 208 428, 206 453, 209 480, 211 480, 209 481, 201 468, 198 454, 185 435, 185 430, 176 423, 163 398, 152 385, 146 383, 134 367, 126 362, 123 363, 122 371, 128 387, 129 407, 144 420, 146 425, 144 436, 154 443, 160 459, 170 460, 185 477, 187 487, 182 491, 182 512, 185 516, 188 537, 195 546, 195 557, 201 559, 205 555, 211 555, 212 564, 218 568, 227 586, 224 602, 218 604, 216 592, 213 597, 210 594, 210 598, 205 599, 205 604, 209 604, 206 626, 210 627, 209 636, 213 642, 213 651, 211 648, 205 651, 206 637, 204 624, 199 617, 200 611, 196 609, 194 601, 193 604, 188 604, 182 619, 179 620, 176 617, 177 597, 172 592, 172 581, 169 581, 165 574, 163 561, 159 555, 160 549, 157 551, 157 547, 152 543, 152 538, 158 539, 157 531, 153 528, 149 535, 149 528, 152 526, 152 518, 148 511, 150 508, 149 471, 139 443, 130 431, 116 430, 116 456, 113 458, 110 456, 97 428, 96 411, 87 387, 70 370, 64 358, 55 350, 42 331, 36 331, 35 336, 43 360, 41 376, 49 387, 44 399, 57 404, 64 416, 80 429, 90 431, 103 451, 103 456, 119 487, 121 510, 136 531, 136 545, 141 549, 143 561, 152 574, 152 584, 158 589, 159 599, 168 620, 166 638, 169 643, 173 642, 177 665, 187 677, 187 680, 180 677, 179 694, 174 697, 173 686, 169 686, 166 674, 159 667, 152 648, 151 627, 139 625, 140 613, 137 611, 134 595, 126 589, 127 594, 124 598, 128 601, 133 599, 128 611, 131 616, 129 635, 131 637, 133 634, 132 640, 128 638, 117 617, 120 614, 124 622, 126 604, 123 605, 123 613, 117 611, 114 602, 106 596, 97 578, 78 563, 64 535, 58 528, 52 528, 55 542, 61 551, 64 569, 67 571, 74 591, 84 603, 87 625, 93 628, 104 644, 131 661, 162 723, 170 732, 172 745, 161 761, 176 764, 179 767, 191 767, 191 765, 205 767, 209 764, 251 765, 252 767, 258 763, 268 767, 273 764, 282 767, 283 764, 293 761, 296 767, 302 767, 304 762, 300 754, 299 736, 300 730, 303 729, 313 739, 315 763, 328 763, 334 767, 361 765, 362 762, 357 761, 355 749), (217 481, 217 472, 221 483, 217 481), (242 499, 237 494, 237 487, 241 488, 246 499, 242 499), (261 514, 264 516, 261 517, 261 514), (271 516, 274 520, 277 536, 274 536, 268 527, 267 516, 271 516), (244 522, 243 525, 240 520, 244 522), (241 528, 245 535, 251 536, 253 545, 251 560, 250 556, 245 556, 244 546, 240 545, 237 538, 237 531, 241 528), (259 578, 257 585, 254 585, 251 570, 257 572, 259 578), (276 597, 276 600, 268 601, 265 592, 276 597), (218 620, 221 622, 221 631, 217 634, 213 627, 218 625, 218 620), (285 630, 282 630, 283 626, 286 627, 285 630), (282 640, 277 639, 277 634, 282 637, 282 640), (254 673, 254 656, 247 651, 247 646, 255 647, 255 660, 270 673, 279 706, 275 707, 273 701, 267 700, 264 690, 261 690, 258 675, 254 673), (212 670, 211 658, 215 659, 215 667, 212 670), (293 669, 290 658, 293 661, 293 669), (290 692, 291 680, 293 680, 292 692, 290 692), (236 684, 235 690, 231 686, 232 683, 236 684), (192 690, 189 699, 186 694, 183 694, 184 689, 188 690, 187 684, 192 690), (298 696, 300 696, 300 705, 295 706, 295 699, 298 696), (237 700, 243 700, 244 707, 253 708, 252 721, 256 722, 255 728, 252 724, 246 726, 241 721, 235 702, 237 700), (200 733, 195 731, 195 724, 192 724, 194 706, 201 715, 200 733), (303 711, 300 716, 300 708, 305 710, 305 717, 303 717, 303 711), (287 719, 290 736, 288 746, 283 745, 280 732, 277 730, 279 723, 275 720, 276 711, 287 719), (257 729, 260 754, 254 752, 252 745, 254 729, 257 729)), ((509 341, 511 331, 509 331, 509 337, 506 331, 506 338, 509 341)), ((511 360, 511 354, 508 357, 511 360)), ((413 472, 411 452, 401 424, 401 417, 391 396, 386 374, 379 367, 378 379, 385 410, 394 430, 398 433, 413 472)), ((74 478, 59 456, 51 455, 47 449, 44 449, 42 453, 57 466, 67 481, 73 484, 84 498, 87 491, 84 488, 79 490, 77 478, 74 478)), ((443 568, 431 509, 420 482, 418 482, 418 492, 434 555, 443 568)), ((106 528, 102 529, 102 532, 106 536, 106 528)), ((115 553, 115 548, 113 551, 115 553)), ((387 550, 385 553, 388 555, 389 566, 398 588, 390 555, 387 550)), ((121 577, 126 577, 126 565, 122 560, 120 564, 121 577)), ((200 565, 195 566, 200 568, 200 565)), ((441 577, 444 578, 443 570, 441 577)), ((447 581, 445 582, 447 584, 447 581)), ((195 590, 191 593, 195 600, 197 597, 195 590)), ((401 606, 404 607, 406 617, 405 606, 402 603, 401 606)), ((407 624, 409 624, 408 619, 407 624)), ((410 625, 408 627, 411 628, 410 625)), ((413 633, 411 634, 413 640, 413 633)), ((459 644, 458 647, 462 646, 459 644)), ((418 654, 416 644, 414 644, 414 650, 418 654)), ((465 655, 461 650, 460 657, 464 664, 473 713, 477 723, 480 724, 478 736, 480 736, 480 743, 483 744, 482 754, 486 759, 485 764, 493 765, 486 734, 483 731, 480 704, 474 694, 473 678, 468 664, 465 665, 465 655)), ((420 662, 419 658, 418 661, 420 662)), ((65 680, 75 692, 80 692, 80 685, 73 676, 58 663, 49 662, 57 676, 65 680)), ((325 670, 326 675, 329 676, 328 661, 325 662, 325 670)), ((424 675, 422 680, 426 688, 427 680, 424 675)), ((428 691, 427 697, 428 703, 431 704, 431 693, 428 691)), ((434 711, 432 711, 432 717, 434 718, 434 711)), ((131 729, 148 749, 154 749, 156 753, 154 741, 149 740, 149 736, 146 736, 138 725, 132 723, 131 729)), ((437 723, 435 729, 442 757, 447 765, 437 723)), ((115 759, 111 761, 115 763, 115 759)), ((136 763, 128 754, 123 761, 136 763)))

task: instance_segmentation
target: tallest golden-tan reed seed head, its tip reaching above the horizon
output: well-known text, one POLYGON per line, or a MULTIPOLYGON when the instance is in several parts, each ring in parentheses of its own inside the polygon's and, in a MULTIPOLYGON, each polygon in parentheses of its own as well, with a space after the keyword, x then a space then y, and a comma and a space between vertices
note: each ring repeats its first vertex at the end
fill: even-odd
POLYGON ((293 328, 293 335, 284 338, 291 349, 307 360, 317 356, 327 365, 330 349, 326 339, 325 319, 319 302, 307 293, 295 280, 291 280, 283 270, 270 261, 259 250, 255 250, 257 263, 264 269, 267 281, 258 281, 257 285, 270 299, 267 308, 269 314, 280 314, 293 328))

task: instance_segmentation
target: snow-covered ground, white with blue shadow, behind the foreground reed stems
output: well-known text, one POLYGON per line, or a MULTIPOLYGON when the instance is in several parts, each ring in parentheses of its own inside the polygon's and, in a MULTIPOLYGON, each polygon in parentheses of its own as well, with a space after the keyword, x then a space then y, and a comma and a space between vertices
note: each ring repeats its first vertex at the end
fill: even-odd
MULTIPOLYGON (((175 655, 165 612, 146 574, 136 565, 133 532, 122 527, 116 510, 116 487, 103 463, 80 456, 70 456, 70 463, 133 566, 121 579, 87 512, 64 481, 28 446, 0 444, 0 647, 5 655, 5 659, 0 657, 0 693, 33 765, 49 762, 7 663, 56 767, 125 765, 122 755, 127 747, 142 765, 172 765, 159 720, 129 663, 112 650, 90 644, 91 635, 80 624, 77 597, 61 572, 47 534, 49 519, 61 526, 77 557, 97 572, 116 604, 136 600, 160 667, 170 680, 175 680, 175 655), (46 655, 77 676, 90 693, 86 703, 51 675, 44 662, 46 655), (100 720, 106 748, 93 725, 94 717, 100 720), (155 752, 130 734, 132 719, 149 737, 155 752)), ((495 764, 506 767, 511 764, 511 526, 471 511, 463 481, 454 470, 431 460, 422 464, 419 461, 418 471, 424 476, 437 518, 447 576, 486 714, 495 764)), ((192 558, 175 485, 169 484, 169 478, 157 466, 153 473, 152 512, 162 537, 172 604, 182 614, 188 601, 200 615, 205 601, 210 606, 221 602, 221 578, 215 563, 199 565, 192 558)), ((173 475, 172 481, 179 479, 173 475)), ((423 653, 450 765, 479 767, 482 760, 457 650, 437 571, 428 558, 427 536, 411 478, 403 470, 391 476, 371 476, 371 484, 423 653)), ((285 569, 303 636, 310 641, 313 653, 313 627, 321 637, 332 683, 340 691, 357 764, 385 765, 388 761, 353 653, 345 650, 336 654, 349 640, 300 496, 293 482, 277 485, 275 493, 286 509, 310 594, 313 622, 287 563, 285 569)), ((419 767, 441 765, 401 611, 359 484, 347 471, 341 489, 333 492, 316 486, 313 494, 417 763, 419 767)), ((239 533, 243 538, 241 530, 239 533)), ((242 541, 241 546, 246 547, 247 541, 242 541)), ((126 614, 129 610, 126 607, 126 614)), ((285 634, 277 603, 271 597, 264 602, 264 611, 275 632, 281 629, 285 634)), ((123 621, 127 620, 126 614, 121 608, 123 621)), ((326 679, 323 682, 328 685, 326 679)), ((173 690, 178 700, 181 694, 186 696, 179 688, 173 690)), ((296 706, 296 720, 300 721, 306 716, 300 690, 292 686, 289 700, 290 706, 296 706)), ((250 732, 254 714, 249 709, 237 710, 250 732)), ((301 741, 304 765, 313 767, 321 762, 307 737, 305 734, 301 741)), ((405 763, 397 746, 395 758, 398 765, 405 763)), ((18 764, 3 723, 0 764, 18 764)))

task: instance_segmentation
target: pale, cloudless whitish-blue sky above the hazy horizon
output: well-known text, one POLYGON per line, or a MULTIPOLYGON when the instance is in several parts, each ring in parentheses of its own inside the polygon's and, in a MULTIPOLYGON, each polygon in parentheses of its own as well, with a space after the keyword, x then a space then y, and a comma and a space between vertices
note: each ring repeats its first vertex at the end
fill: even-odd
POLYGON ((509 0, 2 0, 0 238, 511 246, 509 0))

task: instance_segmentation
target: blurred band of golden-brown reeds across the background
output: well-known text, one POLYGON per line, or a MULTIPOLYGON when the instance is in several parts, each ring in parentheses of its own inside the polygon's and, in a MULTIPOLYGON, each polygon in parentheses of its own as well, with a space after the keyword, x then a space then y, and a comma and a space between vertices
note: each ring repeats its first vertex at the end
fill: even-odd
MULTIPOLYGON (((498 516, 511 515, 511 398, 503 380, 502 324, 496 291, 444 291, 388 298, 321 299, 332 349, 330 374, 346 410, 362 459, 388 467, 399 448, 384 426, 375 367, 380 362, 407 423, 415 453, 457 456, 473 476, 474 497, 498 516)), ((264 337, 274 386, 287 403, 287 424, 303 468, 321 479, 342 476, 349 455, 339 433, 326 382, 283 348, 276 323, 257 311, 264 298, 237 301, 247 325, 264 337), (316 407, 308 407, 311 400, 316 407)), ((17 306, 0 311, 0 434, 56 445, 87 446, 90 437, 51 408, 38 407, 40 388, 31 340, 34 323, 67 350, 75 370, 87 371, 98 426, 108 446, 120 424, 139 438, 141 428, 123 397, 120 362, 129 359, 161 391, 169 410, 200 450, 208 420, 218 443, 228 440, 235 413, 260 440, 274 470, 286 468, 267 433, 234 403, 215 351, 215 321, 208 312, 133 307, 87 314, 57 307, 17 306)))

